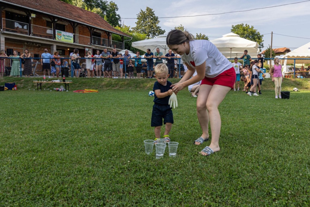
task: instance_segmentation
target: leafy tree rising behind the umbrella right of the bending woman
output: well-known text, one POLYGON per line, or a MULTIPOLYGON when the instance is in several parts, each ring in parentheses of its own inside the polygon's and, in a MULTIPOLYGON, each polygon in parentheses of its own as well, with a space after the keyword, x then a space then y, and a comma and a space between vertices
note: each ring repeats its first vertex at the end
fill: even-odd
POLYGON ((232 33, 240 35, 240 37, 257 42, 259 44, 259 48, 263 48, 263 36, 261 35, 257 29, 254 29, 253 26, 248 24, 244 25, 232 25, 232 29, 230 30, 232 33))

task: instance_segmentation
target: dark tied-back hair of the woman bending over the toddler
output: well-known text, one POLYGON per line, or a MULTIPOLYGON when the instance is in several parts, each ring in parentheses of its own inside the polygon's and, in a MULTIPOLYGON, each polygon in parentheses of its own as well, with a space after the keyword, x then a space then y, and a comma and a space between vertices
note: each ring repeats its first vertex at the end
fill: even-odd
POLYGON ((167 45, 179 45, 194 40, 194 36, 188 31, 179 29, 171 30, 166 38, 167 45))

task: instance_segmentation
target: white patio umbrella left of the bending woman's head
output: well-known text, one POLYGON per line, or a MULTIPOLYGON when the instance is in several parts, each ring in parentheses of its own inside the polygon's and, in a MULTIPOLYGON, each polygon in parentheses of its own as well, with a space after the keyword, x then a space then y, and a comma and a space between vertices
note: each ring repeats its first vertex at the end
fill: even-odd
POLYGON ((140 40, 137 42, 132 42, 131 47, 135 47, 139 50, 146 51, 150 49, 151 52, 156 52, 156 48, 159 48, 159 51, 164 53, 164 55, 168 52, 169 47, 166 44, 166 34, 159 35, 156 38, 140 40))

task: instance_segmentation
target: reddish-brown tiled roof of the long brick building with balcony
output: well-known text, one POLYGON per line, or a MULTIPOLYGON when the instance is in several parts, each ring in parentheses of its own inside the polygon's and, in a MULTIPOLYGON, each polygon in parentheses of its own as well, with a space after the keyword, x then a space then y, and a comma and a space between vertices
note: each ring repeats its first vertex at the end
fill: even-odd
POLYGON ((128 34, 123 33, 112 27, 99 14, 87 11, 85 9, 73 6, 59 0, 0 0, 0 2, 10 3, 30 10, 39 11, 44 14, 59 16, 67 20, 76 21, 85 25, 90 25, 100 28, 102 30, 130 37, 128 34))

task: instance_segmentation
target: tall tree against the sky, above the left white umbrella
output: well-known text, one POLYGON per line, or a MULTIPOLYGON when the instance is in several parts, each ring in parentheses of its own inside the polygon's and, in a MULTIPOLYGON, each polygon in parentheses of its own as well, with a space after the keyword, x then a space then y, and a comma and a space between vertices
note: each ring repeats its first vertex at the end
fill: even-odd
POLYGON ((137 22, 134 28, 134 32, 140 34, 146 34, 147 38, 153 38, 157 35, 164 34, 165 30, 162 30, 159 24, 158 17, 155 16, 153 9, 146 7, 145 11, 140 10, 137 15, 137 22))

